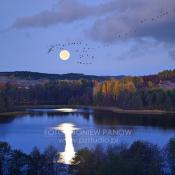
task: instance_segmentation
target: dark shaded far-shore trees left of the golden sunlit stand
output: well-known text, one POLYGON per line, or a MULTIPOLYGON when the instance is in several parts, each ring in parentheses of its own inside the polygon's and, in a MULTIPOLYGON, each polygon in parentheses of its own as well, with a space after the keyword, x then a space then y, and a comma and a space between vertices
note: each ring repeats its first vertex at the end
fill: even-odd
POLYGON ((0 112, 22 105, 89 105, 92 92, 93 82, 86 80, 53 81, 27 88, 6 84, 0 90, 0 112))

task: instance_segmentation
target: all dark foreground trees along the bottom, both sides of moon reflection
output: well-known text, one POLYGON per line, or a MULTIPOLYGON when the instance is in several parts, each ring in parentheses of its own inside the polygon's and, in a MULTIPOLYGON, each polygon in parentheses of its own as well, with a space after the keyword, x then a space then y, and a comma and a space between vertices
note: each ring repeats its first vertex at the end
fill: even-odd
MULTIPOLYGON (((64 168, 58 159, 59 154, 52 146, 44 152, 33 148, 26 154, 0 142, 3 175, 59 175, 64 168)), ((174 175, 175 139, 170 139, 163 148, 142 141, 106 149, 99 145, 92 150, 84 148, 76 153, 68 171, 71 175, 174 175)))

